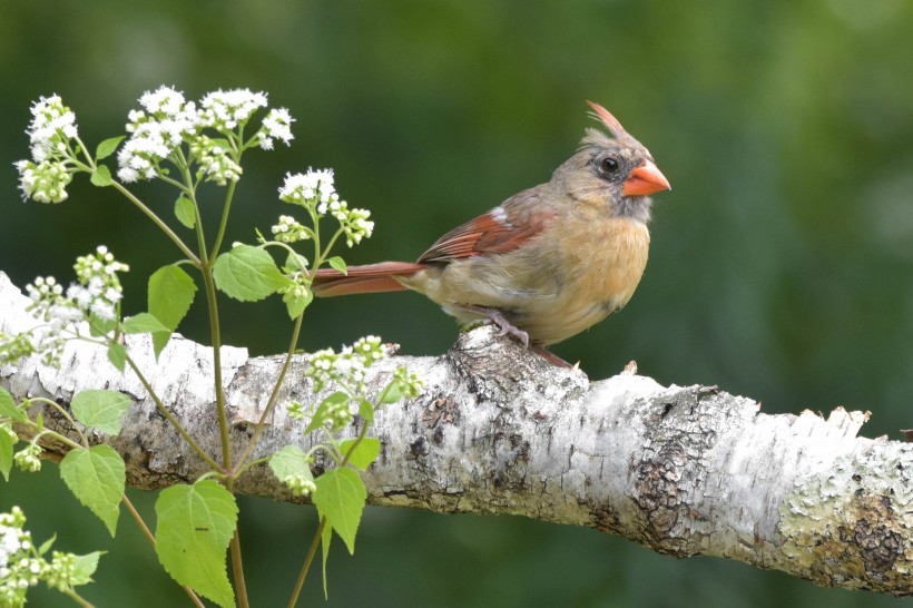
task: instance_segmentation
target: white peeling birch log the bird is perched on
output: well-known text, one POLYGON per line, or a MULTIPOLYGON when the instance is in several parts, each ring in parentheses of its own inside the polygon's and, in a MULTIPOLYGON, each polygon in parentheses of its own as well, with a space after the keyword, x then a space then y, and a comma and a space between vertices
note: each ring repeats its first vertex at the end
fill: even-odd
MULTIPOLYGON (((0 331, 35 324, 27 302, 0 274, 0 331)), ((128 349, 169 410, 219 454, 212 353, 178 336, 159 364, 145 337, 130 339, 128 349)), ((295 357, 281 403, 313 401, 305 361, 295 357)), ((281 362, 224 349, 235 453, 281 362)), ((443 356, 391 357, 372 369, 370 384, 380 389, 400 364, 420 373, 426 390, 377 415, 381 458, 365 474, 374 504, 523 514, 678 557, 724 556, 823 586, 913 592, 913 448, 857 438, 867 413, 765 415, 755 401, 715 388, 666 388, 632 372, 589 381, 488 327, 462 334, 443 356)), ((131 486, 160 488, 205 471, 138 380, 117 373, 102 349, 70 345, 59 370, 35 360, 4 367, 0 384, 16 399, 65 404, 90 388, 130 395, 121 433, 94 440, 125 457, 131 486)), ((65 430, 50 410, 45 416, 65 430)), ((302 430, 277 409, 255 458, 287 443, 310 448, 314 438, 302 430)), ((292 500, 265 467, 236 488, 292 500)))

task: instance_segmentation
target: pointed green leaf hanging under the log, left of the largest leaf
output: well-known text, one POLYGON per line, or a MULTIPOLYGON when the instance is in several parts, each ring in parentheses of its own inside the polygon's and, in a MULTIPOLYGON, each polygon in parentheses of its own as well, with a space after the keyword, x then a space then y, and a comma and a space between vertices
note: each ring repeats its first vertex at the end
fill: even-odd
POLYGON ((110 445, 70 450, 60 461, 60 477, 67 488, 105 522, 111 537, 120 514, 125 470, 124 459, 110 445))

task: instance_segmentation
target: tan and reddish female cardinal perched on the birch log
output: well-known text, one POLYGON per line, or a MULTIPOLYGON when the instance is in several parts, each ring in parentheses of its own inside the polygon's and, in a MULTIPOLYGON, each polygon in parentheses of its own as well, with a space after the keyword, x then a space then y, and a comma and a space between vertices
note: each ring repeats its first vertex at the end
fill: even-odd
POLYGON ((489 318, 553 363, 546 346, 621 308, 650 233, 648 195, 670 189, 652 156, 602 106, 611 134, 587 129, 551 179, 439 238, 418 262, 317 271, 317 296, 414 290, 460 321, 489 318))

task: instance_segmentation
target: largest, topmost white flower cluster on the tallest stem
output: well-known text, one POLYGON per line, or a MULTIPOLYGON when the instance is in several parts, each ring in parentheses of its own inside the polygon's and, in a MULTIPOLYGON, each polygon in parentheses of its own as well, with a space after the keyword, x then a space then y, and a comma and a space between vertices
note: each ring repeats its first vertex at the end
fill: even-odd
MULTIPOLYGON (((160 164, 171 157, 181 144, 187 144, 202 165, 207 180, 224 186, 237 182, 240 167, 233 153, 240 146, 226 147, 204 134, 213 129, 223 137, 237 137, 240 129, 259 108, 266 107, 266 94, 247 89, 217 90, 200 99, 187 101, 171 87, 147 91, 139 99, 144 110, 131 110, 127 131, 130 138, 117 156, 118 177, 124 182, 153 179, 161 174, 160 164)), ((292 118, 285 108, 269 110, 252 138, 254 145, 273 149, 274 140, 288 145, 293 139, 292 118)), ((243 145, 243 144, 242 144, 243 145)))

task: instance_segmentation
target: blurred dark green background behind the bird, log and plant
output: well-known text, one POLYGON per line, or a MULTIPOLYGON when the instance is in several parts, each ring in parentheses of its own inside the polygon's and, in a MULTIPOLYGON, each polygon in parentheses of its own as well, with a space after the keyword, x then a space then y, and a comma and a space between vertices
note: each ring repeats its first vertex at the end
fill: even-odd
MULTIPOLYGON (((289 108, 294 145, 247 156, 229 238, 251 239, 251 225, 267 229, 284 212, 275 192, 286 171, 333 167, 341 195, 376 220, 351 263, 413 259, 548 179, 592 125, 585 100, 599 101, 674 190, 656 197, 650 264, 628 307, 556 352, 593 379, 634 359, 664 384, 718 384, 768 413, 845 405, 873 412, 867 435, 913 426, 909 0, 7 0, 0 268, 18 285, 70 277, 72 259, 105 243, 131 265, 128 312, 143 307, 145 278, 175 249, 85 178, 63 205, 22 203, 11 163, 27 156, 39 96, 60 94, 94 146, 161 84, 190 98, 249 87, 289 108)), ((161 209, 174 198, 138 190, 161 209)), ((224 311, 229 343, 285 347, 278 301, 224 311)), ((184 333, 205 341, 200 313, 184 333)), ((455 337, 410 293, 320 301, 308 321, 308 350, 376 333, 434 355, 455 337)), ((185 604, 129 521, 112 543, 61 490, 52 465, 17 472, 0 509, 22 504, 36 537, 57 531, 59 548, 111 549, 86 590, 99 606, 185 604)), ((150 512, 153 497, 135 498, 150 512)), ((284 606, 314 513, 243 502, 253 598, 284 606)), ((901 604, 520 518, 369 509, 355 556, 334 549, 330 606, 901 604)), ((323 605, 318 572, 305 596, 323 605)))

